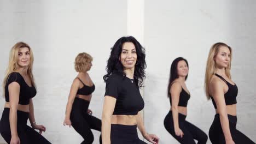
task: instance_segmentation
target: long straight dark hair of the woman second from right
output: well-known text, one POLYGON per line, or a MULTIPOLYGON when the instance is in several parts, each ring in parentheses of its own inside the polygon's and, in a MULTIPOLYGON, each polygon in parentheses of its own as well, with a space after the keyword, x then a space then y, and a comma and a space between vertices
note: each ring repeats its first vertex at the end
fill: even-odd
MULTIPOLYGON (((185 61, 185 63, 187 63, 187 65, 188 65, 187 59, 185 59, 183 57, 178 57, 178 58, 174 59, 174 61, 172 62, 171 70, 170 70, 170 78, 169 78, 169 83, 168 83, 168 88, 167 88, 167 96, 168 97, 170 97, 170 89, 172 86, 172 82, 175 79, 179 78, 178 69, 177 69, 179 61, 185 61)), ((188 66, 188 68, 189 68, 189 66, 188 66)), ((185 80, 187 80, 187 78, 188 78, 188 75, 185 77, 185 80)))

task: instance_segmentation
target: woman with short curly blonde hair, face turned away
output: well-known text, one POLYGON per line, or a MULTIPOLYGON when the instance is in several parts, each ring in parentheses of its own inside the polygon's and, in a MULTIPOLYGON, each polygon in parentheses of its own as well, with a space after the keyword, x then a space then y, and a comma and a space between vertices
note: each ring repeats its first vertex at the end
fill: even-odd
MULTIPOLYGON (((101 120, 92 116, 88 109, 92 92, 95 85, 92 82, 88 71, 91 69, 92 57, 88 53, 79 53, 75 58, 75 70, 78 72, 75 77, 68 97, 66 116, 63 125, 69 125, 84 138, 82 143, 92 143, 94 135, 91 129, 101 131, 101 120)), ((100 143, 101 136, 100 136, 100 143)))

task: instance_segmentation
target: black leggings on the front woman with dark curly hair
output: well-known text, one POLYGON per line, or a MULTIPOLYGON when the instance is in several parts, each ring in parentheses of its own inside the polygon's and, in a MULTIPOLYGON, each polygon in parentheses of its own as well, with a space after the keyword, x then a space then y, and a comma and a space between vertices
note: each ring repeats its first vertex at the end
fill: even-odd
POLYGON ((139 140, 137 125, 111 124, 111 144, 147 144, 139 140))

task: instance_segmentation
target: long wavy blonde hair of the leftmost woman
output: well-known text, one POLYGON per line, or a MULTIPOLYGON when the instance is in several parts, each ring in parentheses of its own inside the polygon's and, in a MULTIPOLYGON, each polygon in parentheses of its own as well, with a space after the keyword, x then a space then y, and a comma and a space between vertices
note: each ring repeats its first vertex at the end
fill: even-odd
POLYGON ((10 50, 9 64, 8 64, 7 70, 5 71, 5 76, 4 76, 4 80, 3 80, 3 95, 5 93, 5 85, 8 81, 9 75, 11 73, 17 71, 18 68, 19 68, 18 53, 19 53, 19 49, 23 48, 23 47, 27 47, 28 50, 30 50, 30 64, 28 65, 27 74, 30 77, 32 85, 34 87, 36 87, 36 84, 34 83, 34 76, 33 76, 33 73, 32 73, 32 67, 33 67, 33 62, 34 62, 34 56, 33 56, 32 49, 30 48, 30 46, 28 44, 26 44, 24 42, 18 42, 10 50))

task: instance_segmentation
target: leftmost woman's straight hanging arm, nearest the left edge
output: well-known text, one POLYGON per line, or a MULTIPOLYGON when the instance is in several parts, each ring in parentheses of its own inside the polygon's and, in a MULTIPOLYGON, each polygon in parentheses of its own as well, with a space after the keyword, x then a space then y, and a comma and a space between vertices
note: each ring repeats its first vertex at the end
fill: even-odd
POLYGON ((15 139, 18 143, 19 137, 17 132, 17 109, 19 104, 20 85, 18 82, 11 82, 8 86, 9 89, 9 104, 10 104, 10 130, 11 130, 11 141, 15 139))

